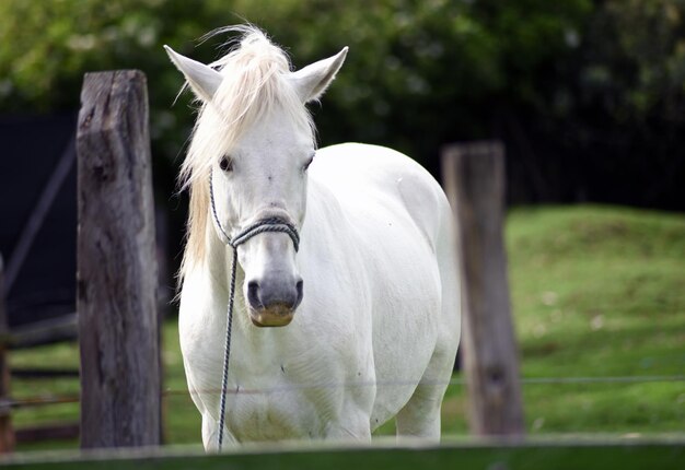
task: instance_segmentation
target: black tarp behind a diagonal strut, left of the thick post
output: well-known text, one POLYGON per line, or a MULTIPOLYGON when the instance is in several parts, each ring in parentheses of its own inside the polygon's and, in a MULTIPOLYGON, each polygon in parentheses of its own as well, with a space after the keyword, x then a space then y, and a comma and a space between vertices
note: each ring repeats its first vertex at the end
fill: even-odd
MULTIPOLYGON (((73 152, 77 115, 0 118, 0 252, 5 272, 47 183, 73 152)), ((77 167, 49 205, 7 294, 10 328, 76 312, 77 167)))

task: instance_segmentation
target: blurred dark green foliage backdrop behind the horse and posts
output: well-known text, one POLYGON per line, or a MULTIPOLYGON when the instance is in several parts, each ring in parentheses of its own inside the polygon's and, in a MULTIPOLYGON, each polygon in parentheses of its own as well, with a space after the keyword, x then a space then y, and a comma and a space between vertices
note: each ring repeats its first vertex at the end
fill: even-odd
MULTIPOLYGON (((148 74, 158 199, 190 96, 161 46, 210 61, 204 33, 247 19, 297 67, 350 55, 314 106, 321 143, 365 141, 438 174, 449 142, 498 138, 511 203, 685 210, 682 0, 3 0, 0 113, 72 113, 85 71, 148 74)), ((438 175, 439 176, 439 175, 438 175)))

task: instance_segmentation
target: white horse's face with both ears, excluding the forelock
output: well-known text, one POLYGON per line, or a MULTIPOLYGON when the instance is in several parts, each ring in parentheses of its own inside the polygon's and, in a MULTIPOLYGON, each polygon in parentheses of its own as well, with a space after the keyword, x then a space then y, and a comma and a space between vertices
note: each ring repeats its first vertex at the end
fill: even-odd
MULTIPOLYGON (((166 51, 196 95, 221 113, 222 103, 227 103, 225 96, 221 95, 227 89, 221 87, 223 75, 170 48, 166 51)), ((287 59, 282 56, 286 66, 275 89, 276 93, 283 93, 281 99, 267 106, 268 111, 259 114, 243 129, 230 148, 209 155, 213 158, 210 163, 216 219, 221 224, 214 224, 214 227, 219 238, 223 238, 222 231, 234 237, 249 225, 269 218, 288 222, 298 230, 302 226, 306 209, 306 173, 314 157, 313 130, 304 104, 318 99, 346 55, 347 48, 297 72, 289 72, 287 59)), ((233 113, 225 114, 231 116, 233 113)), ((230 126, 225 124, 227 119, 218 121, 230 126)), ((231 129, 223 131, 231 132, 231 129)), ((210 216, 213 219, 213 213, 210 216)), ((253 324, 259 327, 288 325, 304 293, 304 281, 298 272, 290 237, 283 233, 260 233, 240 245, 237 254, 245 273, 243 293, 253 324)))

